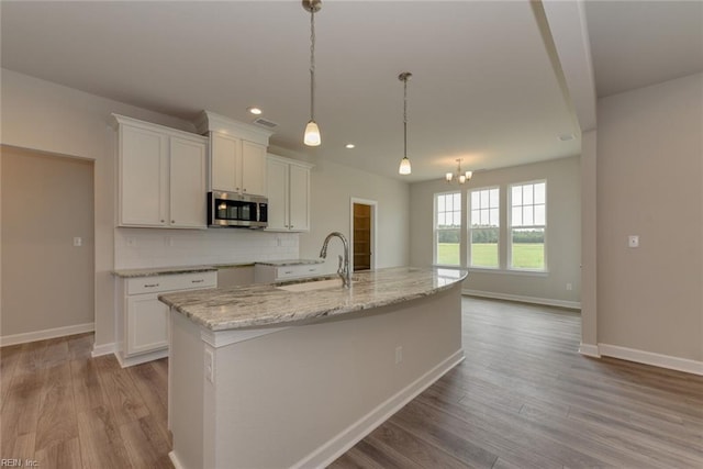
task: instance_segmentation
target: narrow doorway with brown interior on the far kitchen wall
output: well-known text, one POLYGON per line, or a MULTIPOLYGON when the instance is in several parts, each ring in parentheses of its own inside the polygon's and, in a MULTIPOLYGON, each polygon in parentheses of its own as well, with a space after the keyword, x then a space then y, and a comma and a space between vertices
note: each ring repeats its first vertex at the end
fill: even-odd
POLYGON ((352 267, 355 272, 376 268, 376 210, 373 200, 352 199, 352 267))

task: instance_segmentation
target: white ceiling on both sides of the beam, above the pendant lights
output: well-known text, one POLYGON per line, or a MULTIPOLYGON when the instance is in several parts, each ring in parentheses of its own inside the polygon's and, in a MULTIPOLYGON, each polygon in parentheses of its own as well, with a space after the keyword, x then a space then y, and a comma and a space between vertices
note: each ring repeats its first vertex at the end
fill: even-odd
MULTIPOLYGON (((611 21, 612 2, 605 3, 589 2, 587 13, 589 29, 598 31, 591 38, 599 91, 607 86, 615 90, 610 93, 633 88, 624 74, 607 74, 623 63, 616 45, 627 37, 623 29, 631 30, 627 9, 640 2, 618 10, 621 24, 611 21), (615 58, 601 60, 606 53, 615 58)), ((207 109, 250 122, 246 108, 258 105, 264 118, 279 124, 271 144, 313 158, 420 181, 442 178, 456 158, 476 170, 580 153, 572 107, 545 47, 538 9, 528 0, 324 0, 315 16, 315 120, 323 137, 317 148, 301 142, 310 105, 310 16, 298 0, 2 1, 1 8, 4 68, 186 120, 207 109), (410 177, 398 176, 403 152, 398 75, 405 70, 413 74, 410 177), (561 142, 565 134, 576 138, 561 142), (344 148, 349 142, 355 149, 344 148)), ((682 34, 676 18, 663 27, 654 24, 656 36, 666 41, 682 34)), ((695 29, 694 21, 687 24, 695 29)), ((637 43, 644 41, 641 31, 635 33, 637 43)), ((673 44, 689 41, 684 34, 673 44)), ((695 47, 687 51, 690 56, 695 47)), ((685 72, 703 69, 700 62, 687 70, 691 67, 685 72)))

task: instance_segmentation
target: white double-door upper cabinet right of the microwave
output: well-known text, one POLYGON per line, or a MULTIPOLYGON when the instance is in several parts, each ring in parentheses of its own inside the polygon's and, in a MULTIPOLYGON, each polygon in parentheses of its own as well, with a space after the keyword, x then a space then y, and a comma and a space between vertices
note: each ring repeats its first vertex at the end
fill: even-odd
POLYGON ((276 232, 310 231, 311 165, 268 155, 268 227, 276 232))

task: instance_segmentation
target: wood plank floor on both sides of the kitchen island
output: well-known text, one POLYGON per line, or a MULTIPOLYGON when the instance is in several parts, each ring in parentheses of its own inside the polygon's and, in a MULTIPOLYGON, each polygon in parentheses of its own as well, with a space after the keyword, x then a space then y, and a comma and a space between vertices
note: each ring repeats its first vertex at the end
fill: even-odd
MULTIPOLYGON (((331 468, 703 468, 703 377, 577 353, 580 316, 465 298, 466 360, 331 468)), ((92 335, 0 349, 0 457, 172 468, 166 359, 92 335)))

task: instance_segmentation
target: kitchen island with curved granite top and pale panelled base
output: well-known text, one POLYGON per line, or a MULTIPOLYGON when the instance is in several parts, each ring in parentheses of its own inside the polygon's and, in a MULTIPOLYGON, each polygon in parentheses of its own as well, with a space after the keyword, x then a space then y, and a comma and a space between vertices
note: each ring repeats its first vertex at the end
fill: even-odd
POLYGON ((323 467, 464 359, 466 272, 164 294, 177 468, 323 467))

